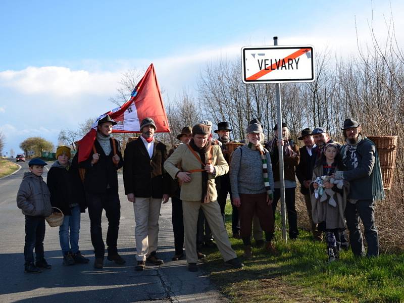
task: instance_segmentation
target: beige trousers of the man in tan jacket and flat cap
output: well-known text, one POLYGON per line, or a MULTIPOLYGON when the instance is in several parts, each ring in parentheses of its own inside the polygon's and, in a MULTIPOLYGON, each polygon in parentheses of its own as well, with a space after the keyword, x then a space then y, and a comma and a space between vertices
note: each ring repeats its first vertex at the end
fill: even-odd
POLYGON ((182 201, 182 212, 184 215, 185 251, 186 261, 196 263, 196 225, 198 222, 199 209, 204 212, 209 227, 215 237, 216 245, 224 261, 229 261, 237 257, 231 248, 229 236, 223 224, 223 217, 220 213, 220 206, 217 201, 211 203, 200 203, 200 201, 182 201))

